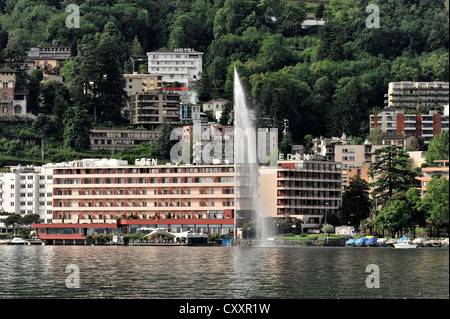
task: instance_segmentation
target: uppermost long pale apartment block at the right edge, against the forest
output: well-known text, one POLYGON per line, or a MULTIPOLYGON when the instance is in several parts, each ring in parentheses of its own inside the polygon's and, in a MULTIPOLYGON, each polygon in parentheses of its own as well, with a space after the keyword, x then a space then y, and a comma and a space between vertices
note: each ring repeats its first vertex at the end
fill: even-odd
POLYGON ((449 103, 448 82, 391 82, 385 95, 387 107, 411 109, 449 103))

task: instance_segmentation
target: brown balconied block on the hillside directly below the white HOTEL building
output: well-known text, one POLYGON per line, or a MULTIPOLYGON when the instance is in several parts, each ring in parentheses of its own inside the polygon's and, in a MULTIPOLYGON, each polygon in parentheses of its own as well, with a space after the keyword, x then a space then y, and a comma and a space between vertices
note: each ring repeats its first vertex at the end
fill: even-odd
POLYGON ((157 130, 165 118, 180 123, 180 96, 162 90, 129 96, 129 119, 132 125, 157 130))

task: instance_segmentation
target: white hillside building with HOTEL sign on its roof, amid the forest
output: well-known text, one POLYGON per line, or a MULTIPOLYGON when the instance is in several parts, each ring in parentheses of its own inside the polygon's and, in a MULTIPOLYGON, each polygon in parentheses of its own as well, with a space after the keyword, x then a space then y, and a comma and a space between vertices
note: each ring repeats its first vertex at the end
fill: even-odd
POLYGON ((152 51, 147 52, 147 57, 148 72, 162 75, 163 82, 179 82, 187 87, 201 77, 203 53, 194 49, 152 51))

